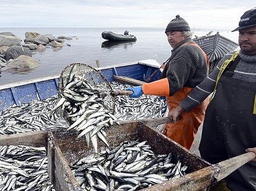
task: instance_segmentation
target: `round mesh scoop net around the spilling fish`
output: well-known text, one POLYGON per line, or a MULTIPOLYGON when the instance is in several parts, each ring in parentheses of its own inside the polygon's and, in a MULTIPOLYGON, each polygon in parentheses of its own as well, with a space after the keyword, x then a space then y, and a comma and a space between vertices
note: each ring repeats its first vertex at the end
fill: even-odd
MULTIPOLYGON (((83 63, 72 63, 67 65, 67 67, 61 71, 58 99, 61 99, 60 95, 64 92, 67 84, 71 83, 75 78, 86 79, 93 89, 99 92, 100 98, 103 100, 107 109, 112 113, 114 112, 115 98, 110 95, 112 87, 108 83, 107 79, 98 70, 83 63)), ((70 124, 70 119, 68 119, 67 114, 63 109, 60 108, 59 112, 70 124)))

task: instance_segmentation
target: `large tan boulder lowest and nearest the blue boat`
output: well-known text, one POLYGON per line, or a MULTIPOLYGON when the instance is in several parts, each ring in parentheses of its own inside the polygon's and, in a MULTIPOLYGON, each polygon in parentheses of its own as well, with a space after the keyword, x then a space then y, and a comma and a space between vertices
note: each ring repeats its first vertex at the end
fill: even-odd
POLYGON ((41 64, 30 56, 20 55, 16 59, 9 61, 2 71, 6 72, 27 72, 39 67, 41 64))

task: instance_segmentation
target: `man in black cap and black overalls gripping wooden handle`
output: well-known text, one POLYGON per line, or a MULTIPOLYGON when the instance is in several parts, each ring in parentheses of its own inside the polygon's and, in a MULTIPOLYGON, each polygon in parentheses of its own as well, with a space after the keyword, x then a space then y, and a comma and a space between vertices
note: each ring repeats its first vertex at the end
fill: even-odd
MULTIPOLYGON (((239 31, 240 50, 225 55, 209 77, 169 113, 176 122, 179 114, 214 93, 199 145, 201 157, 211 164, 245 151, 256 153, 256 8, 246 11, 233 31, 239 31)), ((225 180, 231 190, 256 190, 256 163, 246 163, 225 180)))

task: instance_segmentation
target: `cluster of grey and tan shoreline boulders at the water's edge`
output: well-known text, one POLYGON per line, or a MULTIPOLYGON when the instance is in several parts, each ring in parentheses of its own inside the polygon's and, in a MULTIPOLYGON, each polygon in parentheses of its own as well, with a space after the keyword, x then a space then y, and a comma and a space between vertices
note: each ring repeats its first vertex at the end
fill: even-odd
MULTIPOLYGON (((1 72, 29 72, 40 66, 40 62, 32 58, 33 52, 44 52, 47 46, 58 50, 64 47, 66 36, 54 38, 52 34, 25 32, 24 43, 11 32, 0 32, 0 74, 1 72)), ((66 46, 70 46, 68 43, 66 46)))

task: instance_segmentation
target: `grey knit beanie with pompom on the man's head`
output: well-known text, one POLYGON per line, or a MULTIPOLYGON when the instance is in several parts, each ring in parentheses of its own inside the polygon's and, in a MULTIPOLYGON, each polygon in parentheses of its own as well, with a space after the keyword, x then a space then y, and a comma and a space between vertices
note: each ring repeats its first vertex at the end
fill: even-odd
POLYGON ((190 31, 190 27, 186 20, 177 14, 176 18, 172 19, 165 29, 165 33, 170 31, 190 31))

